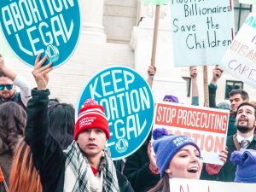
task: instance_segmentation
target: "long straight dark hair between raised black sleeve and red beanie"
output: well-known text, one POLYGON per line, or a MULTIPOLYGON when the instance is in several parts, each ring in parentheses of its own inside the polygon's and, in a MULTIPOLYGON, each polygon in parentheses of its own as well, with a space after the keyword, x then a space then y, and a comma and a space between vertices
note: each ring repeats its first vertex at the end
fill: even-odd
POLYGON ((66 149, 73 142, 74 113, 72 105, 59 103, 49 107, 49 132, 66 149))

